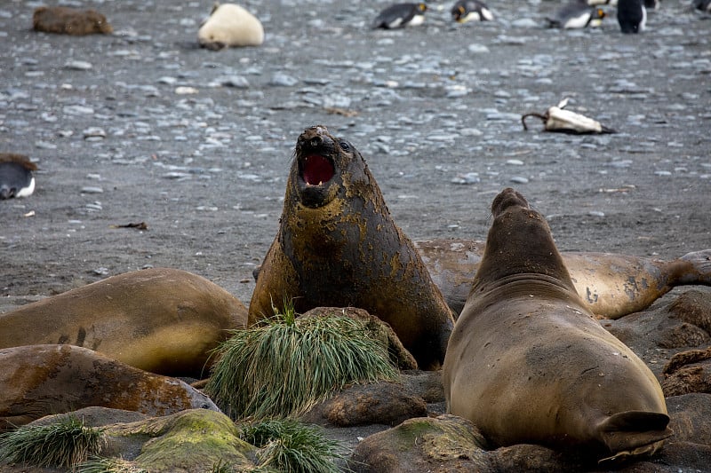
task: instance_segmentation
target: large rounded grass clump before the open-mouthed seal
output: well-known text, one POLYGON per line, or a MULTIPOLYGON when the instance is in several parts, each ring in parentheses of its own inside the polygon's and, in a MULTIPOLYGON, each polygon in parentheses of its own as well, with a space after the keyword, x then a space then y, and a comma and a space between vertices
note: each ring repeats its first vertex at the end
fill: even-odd
POLYGON ((397 379, 363 322, 286 312, 234 331, 217 349, 205 391, 232 419, 298 416, 347 383, 397 379))

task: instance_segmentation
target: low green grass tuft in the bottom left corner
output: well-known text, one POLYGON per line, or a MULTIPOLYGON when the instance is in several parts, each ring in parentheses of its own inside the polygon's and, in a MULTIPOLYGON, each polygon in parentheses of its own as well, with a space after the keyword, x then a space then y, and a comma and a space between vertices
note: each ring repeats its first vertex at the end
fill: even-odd
POLYGON ((103 430, 68 415, 48 425, 24 425, 0 435, 0 459, 37 467, 74 469, 100 452, 103 430))

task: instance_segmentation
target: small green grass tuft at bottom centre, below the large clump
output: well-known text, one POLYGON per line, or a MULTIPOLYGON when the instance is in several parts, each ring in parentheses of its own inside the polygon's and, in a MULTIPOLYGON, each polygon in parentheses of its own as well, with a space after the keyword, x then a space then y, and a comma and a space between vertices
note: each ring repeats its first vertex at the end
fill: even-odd
POLYGON ((244 425, 240 438, 260 448, 260 467, 294 473, 336 473, 338 442, 325 438, 316 426, 294 420, 263 421, 244 425))

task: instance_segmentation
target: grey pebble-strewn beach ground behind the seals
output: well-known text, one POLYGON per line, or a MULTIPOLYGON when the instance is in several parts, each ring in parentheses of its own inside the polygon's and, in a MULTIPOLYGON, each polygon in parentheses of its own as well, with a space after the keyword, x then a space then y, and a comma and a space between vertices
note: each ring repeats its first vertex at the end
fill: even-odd
POLYGON ((248 304, 318 123, 359 148, 413 239, 483 239, 512 185, 563 250, 711 248, 711 21, 690 2, 622 35, 614 8, 599 29, 543 28, 557 1, 491 2, 497 20, 466 25, 436 2, 422 27, 371 31, 387 2, 254 0, 265 43, 223 51, 196 47, 212 0, 51 2, 115 29, 85 37, 31 31, 40 4, 0 4, 0 152, 39 165, 34 195, 0 201, 0 311, 150 266, 248 304), (564 97, 619 133, 523 130, 564 97))

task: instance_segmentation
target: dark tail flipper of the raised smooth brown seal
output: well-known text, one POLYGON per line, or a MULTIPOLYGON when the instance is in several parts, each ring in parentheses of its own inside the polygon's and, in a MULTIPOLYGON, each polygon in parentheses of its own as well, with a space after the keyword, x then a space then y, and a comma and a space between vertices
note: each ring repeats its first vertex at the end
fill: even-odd
POLYGON ((613 414, 598 427, 605 445, 612 456, 600 462, 614 461, 635 456, 649 456, 674 433, 667 427, 667 414, 628 411, 613 414))

